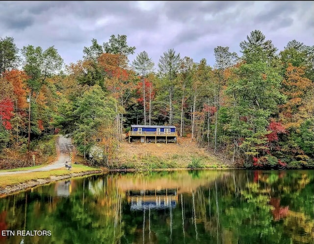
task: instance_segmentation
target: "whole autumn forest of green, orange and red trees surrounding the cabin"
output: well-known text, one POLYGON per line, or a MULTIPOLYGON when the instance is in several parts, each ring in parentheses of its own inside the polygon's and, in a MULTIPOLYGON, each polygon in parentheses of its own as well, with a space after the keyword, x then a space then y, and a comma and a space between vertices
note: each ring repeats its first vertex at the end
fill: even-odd
POLYGON ((111 35, 64 64, 54 46, 0 37, 0 165, 49 156, 47 142, 62 133, 86 159, 101 148, 107 166, 131 124, 147 124, 175 125, 241 168, 312 168, 314 46, 291 40, 278 50, 253 30, 239 47, 241 56, 217 46, 213 67, 175 49, 154 64, 145 50, 130 61, 136 48, 111 35))

